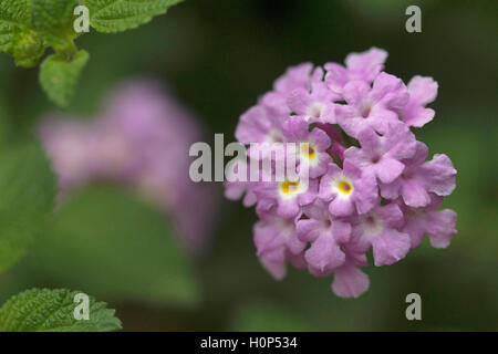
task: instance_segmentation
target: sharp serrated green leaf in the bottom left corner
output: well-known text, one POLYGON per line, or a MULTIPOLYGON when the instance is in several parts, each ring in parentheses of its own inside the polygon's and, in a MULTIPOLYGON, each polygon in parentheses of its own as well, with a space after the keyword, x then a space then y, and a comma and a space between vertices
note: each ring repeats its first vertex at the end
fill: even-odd
POLYGON ((0 309, 0 332, 108 332, 121 330, 115 311, 89 296, 89 320, 76 320, 79 291, 32 289, 0 309))

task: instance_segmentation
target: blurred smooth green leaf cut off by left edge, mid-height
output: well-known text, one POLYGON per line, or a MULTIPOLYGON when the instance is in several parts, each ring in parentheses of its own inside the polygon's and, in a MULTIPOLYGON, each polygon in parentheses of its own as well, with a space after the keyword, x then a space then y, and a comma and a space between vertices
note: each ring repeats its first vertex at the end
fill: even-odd
POLYGON ((54 176, 38 146, 0 154, 0 272, 28 250, 52 211, 54 176))

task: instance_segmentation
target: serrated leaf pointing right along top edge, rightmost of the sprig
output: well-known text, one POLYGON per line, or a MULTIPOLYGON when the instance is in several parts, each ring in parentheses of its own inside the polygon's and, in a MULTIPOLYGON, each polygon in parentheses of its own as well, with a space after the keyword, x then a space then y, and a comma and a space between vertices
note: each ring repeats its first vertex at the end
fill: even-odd
POLYGON ((100 32, 121 32, 149 22, 181 0, 85 0, 90 24, 100 32))

